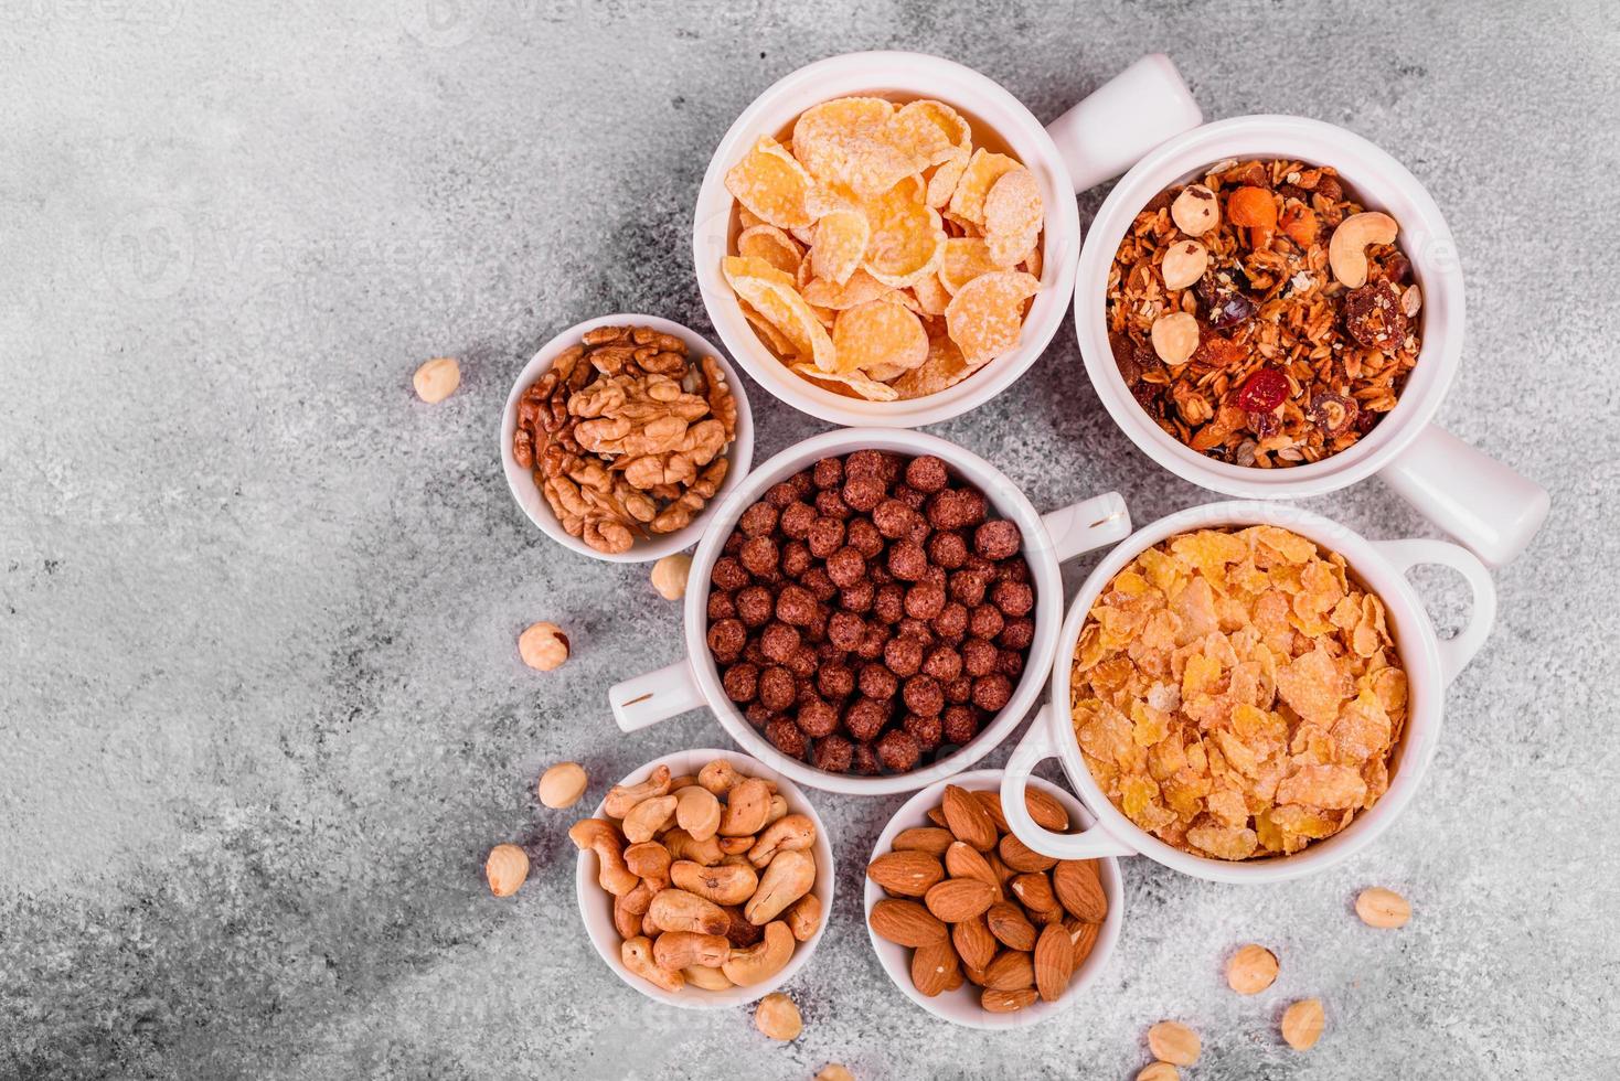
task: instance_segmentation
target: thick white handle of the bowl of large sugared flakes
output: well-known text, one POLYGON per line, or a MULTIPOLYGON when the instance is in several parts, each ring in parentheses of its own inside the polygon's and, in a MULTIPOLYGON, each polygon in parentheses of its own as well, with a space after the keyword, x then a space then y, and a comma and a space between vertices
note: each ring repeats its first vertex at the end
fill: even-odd
POLYGON ((1050 125, 1074 191, 1095 188, 1136 165, 1155 146, 1204 123, 1204 112, 1162 52, 1108 79, 1050 125))

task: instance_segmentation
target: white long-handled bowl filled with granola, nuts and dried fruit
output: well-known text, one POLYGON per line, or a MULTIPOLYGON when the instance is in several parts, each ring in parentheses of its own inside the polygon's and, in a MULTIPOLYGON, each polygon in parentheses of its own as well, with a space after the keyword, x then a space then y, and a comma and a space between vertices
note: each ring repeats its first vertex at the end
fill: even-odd
POLYGON ((1074 320, 1098 398, 1150 458, 1244 498, 1379 474, 1487 563, 1547 494, 1432 424, 1463 345, 1445 217, 1372 142, 1301 117, 1170 139, 1113 189, 1074 320))

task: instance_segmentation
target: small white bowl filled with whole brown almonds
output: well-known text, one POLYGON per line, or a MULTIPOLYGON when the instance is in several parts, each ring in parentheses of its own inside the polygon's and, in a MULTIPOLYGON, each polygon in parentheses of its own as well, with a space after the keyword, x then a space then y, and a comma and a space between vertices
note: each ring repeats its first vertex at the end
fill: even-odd
MULTIPOLYGON (((1045 1021, 1108 963, 1124 916, 1119 864, 1051 859, 1001 811, 1001 770, 923 788, 894 812, 867 864, 867 931, 883 971, 928 1013, 978 1029, 1045 1021)), ((1077 799, 1032 778, 1029 814, 1084 829, 1077 799)))

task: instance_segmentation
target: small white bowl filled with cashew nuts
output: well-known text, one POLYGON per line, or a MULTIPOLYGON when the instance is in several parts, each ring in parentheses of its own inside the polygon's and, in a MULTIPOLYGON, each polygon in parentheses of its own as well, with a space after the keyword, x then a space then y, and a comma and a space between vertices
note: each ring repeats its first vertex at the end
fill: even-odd
POLYGON ((624 982, 674 1007, 737 1007, 781 987, 833 906, 821 816, 745 754, 648 762, 569 838, 591 945, 624 982))

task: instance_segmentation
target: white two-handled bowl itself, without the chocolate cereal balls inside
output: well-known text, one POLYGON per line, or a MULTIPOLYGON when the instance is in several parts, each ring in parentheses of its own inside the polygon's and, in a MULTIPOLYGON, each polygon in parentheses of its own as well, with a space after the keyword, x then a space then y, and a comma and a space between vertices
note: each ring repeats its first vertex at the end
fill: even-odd
POLYGON ((1048 515, 1040 515, 1013 481, 988 461, 936 435, 894 429, 842 429, 795 443, 755 469, 745 484, 732 492, 708 523, 698 550, 692 555, 684 608, 687 655, 656 672, 625 680, 608 691, 614 720, 625 731, 635 731, 676 714, 708 706, 721 727, 748 754, 771 769, 792 777, 800 785, 842 791, 857 796, 886 796, 912 791, 967 769, 988 754, 1017 727, 1024 712, 1040 694, 1040 685, 1051 667, 1058 646, 1058 623, 1063 618, 1063 576, 1058 565, 1084 552, 1106 547, 1131 532, 1131 515, 1118 492, 1108 492, 1048 515), (891 450, 899 455, 936 455, 949 463, 964 481, 977 485, 998 515, 1017 523, 1024 534, 1022 555, 1029 562, 1035 587, 1035 638, 1029 647, 1024 675, 1013 697, 967 746, 909 774, 857 777, 828 774, 807 762, 791 759, 744 719, 721 686, 714 657, 708 647, 710 571, 732 528, 765 490, 779 481, 815 464, 821 458, 855 450, 891 450))

